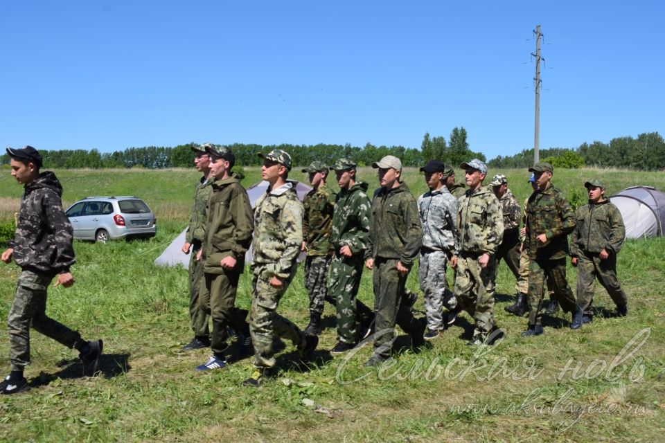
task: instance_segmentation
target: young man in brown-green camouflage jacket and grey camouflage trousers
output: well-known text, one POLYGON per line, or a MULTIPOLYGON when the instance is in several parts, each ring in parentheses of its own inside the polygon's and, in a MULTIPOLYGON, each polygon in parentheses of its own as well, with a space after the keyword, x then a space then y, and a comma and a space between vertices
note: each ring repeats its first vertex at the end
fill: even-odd
POLYGON ((332 213, 335 211, 335 192, 326 186, 328 165, 314 161, 303 172, 309 174, 312 190, 303 199, 303 244, 302 251, 307 252, 305 259, 305 287, 310 296, 310 323, 305 333, 321 334, 321 314, 323 301, 335 305, 335 300, 328 296, 328 266, 332 253, 330 228, 332 213))

